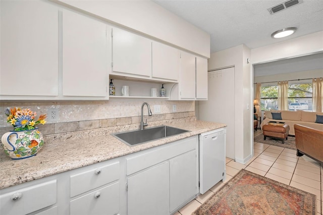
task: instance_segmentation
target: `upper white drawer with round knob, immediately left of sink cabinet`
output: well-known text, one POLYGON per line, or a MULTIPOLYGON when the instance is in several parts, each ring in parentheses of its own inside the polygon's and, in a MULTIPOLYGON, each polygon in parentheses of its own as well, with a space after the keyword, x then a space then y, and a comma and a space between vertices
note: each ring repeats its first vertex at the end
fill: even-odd
POLYGON ((119 162, 71 175, 70 197, 74 197, 104 184, 116 181, 119 177, 119 162))

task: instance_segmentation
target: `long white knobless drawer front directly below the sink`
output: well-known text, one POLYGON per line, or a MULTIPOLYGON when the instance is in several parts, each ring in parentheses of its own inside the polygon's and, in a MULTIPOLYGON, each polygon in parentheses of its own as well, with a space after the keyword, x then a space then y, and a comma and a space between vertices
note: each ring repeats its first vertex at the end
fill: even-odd
POLYGON ((176 143, 158 149, 149 150, 146 153, 139 153, 136 156, 127 158, 127 176, 156 165, 164 160, 175 157, 179 154, 196 148, 198 136, 178 140, 176 143))

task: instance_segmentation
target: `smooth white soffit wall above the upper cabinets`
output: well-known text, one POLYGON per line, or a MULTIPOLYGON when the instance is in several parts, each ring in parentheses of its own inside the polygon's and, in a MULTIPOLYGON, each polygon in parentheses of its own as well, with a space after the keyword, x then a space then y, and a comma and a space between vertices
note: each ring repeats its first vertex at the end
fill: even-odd
POLYGON ((158 38, 206 58, 210 35, 151 1, 55 1, 158 38))

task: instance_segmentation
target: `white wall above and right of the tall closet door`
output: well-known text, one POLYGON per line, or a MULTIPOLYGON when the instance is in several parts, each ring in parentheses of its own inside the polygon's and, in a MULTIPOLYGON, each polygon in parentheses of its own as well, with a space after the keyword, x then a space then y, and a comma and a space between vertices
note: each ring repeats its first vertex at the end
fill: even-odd
MULTIPOLYGON (((208 60, 208 70, 235 66, 235 160, 246 163, 252 157, 251 134, 251 64, 250 49, 245 45, 238 45, 222 51, 211 53, 208 60), (249 105, 249 110, 247 110, 249 105), (243 140, 243 141, 241 141, 243 140)), ((224 92, 225 93, 225 92, 224 92)), ((208 98, 211 99, 211 98, 208 98)))

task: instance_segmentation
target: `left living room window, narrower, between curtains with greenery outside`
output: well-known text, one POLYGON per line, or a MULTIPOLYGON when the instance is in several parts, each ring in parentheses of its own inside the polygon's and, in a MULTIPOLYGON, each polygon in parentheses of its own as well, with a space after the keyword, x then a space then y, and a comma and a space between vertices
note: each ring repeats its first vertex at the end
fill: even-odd
POLYGON ((278 86, 261 86, 260 92, 261 111, 278 110, 278 86))

